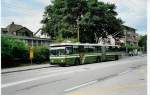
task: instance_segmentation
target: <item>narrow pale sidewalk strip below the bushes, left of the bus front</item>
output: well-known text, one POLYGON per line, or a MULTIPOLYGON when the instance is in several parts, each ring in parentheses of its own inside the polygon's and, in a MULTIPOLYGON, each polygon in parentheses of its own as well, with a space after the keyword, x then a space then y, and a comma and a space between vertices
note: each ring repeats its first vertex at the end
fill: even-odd
POLYGON ((47 64, 40 64, 40 65, 34 64, 34 65, 30 65, 30 66, 7 68, 7 69, 1 69, 1 74, 26 71, 26 70, 33 70, 33 69, 40 69, 40 68, 48 68, 50 66, 52 66, 52 65, 47 63, 47 64))

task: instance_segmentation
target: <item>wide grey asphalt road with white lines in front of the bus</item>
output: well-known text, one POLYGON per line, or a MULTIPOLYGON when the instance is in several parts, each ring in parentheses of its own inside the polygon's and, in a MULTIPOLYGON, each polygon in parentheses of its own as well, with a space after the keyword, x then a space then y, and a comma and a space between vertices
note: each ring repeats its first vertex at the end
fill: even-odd
POLYGON ((6 73, 1 91, 2 95, 146 95, 146 57, 6 73))

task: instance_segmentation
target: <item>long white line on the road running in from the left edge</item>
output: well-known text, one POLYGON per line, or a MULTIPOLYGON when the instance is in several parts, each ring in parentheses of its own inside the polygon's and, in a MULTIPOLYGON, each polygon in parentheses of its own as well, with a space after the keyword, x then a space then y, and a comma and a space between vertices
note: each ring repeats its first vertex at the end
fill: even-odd
POLYGON ((51 74, 51 75, 40 76, 40 77, 31 78, 31 79, 22 80, 22 81, 17 81, 17 82, 12 82, 12 83, 6 83, 6 84, 2 84, 1 88, 5 88, 5 87, 9 87, 9 86, 14 86, 14 85, 22 84, 22 83, 27 83, 27 82, 31 82, 31 81, 37 81, 37 80, 40 80, 40 79, 45 79, 45 78, 49 78, 49 77, 59 76, 59 75, 63 75, 63 74, 70 74, 70 73, 74 73, 74 72, 81 72, 81 71, 85 71, 85 69, 68 71, 68 72, 64 72, 64 73, 60 72, 60 73, 57 73, 57 74, 51 74))

